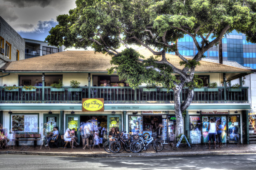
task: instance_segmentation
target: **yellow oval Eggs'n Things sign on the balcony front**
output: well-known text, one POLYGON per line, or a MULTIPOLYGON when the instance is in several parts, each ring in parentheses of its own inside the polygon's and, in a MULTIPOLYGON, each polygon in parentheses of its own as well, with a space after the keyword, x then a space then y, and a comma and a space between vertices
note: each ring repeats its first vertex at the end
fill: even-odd
POLYGON ((82 99, 82 111, 104 111, 104 99, 82 99))

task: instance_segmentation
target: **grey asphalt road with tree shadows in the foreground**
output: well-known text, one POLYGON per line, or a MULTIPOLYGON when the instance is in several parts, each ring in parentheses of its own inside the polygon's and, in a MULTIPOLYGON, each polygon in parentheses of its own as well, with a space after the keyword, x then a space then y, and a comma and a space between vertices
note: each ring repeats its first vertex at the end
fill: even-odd
POLYGON ((84 158, 0 155, 1 170, 253 170, 256 154, 84 158))

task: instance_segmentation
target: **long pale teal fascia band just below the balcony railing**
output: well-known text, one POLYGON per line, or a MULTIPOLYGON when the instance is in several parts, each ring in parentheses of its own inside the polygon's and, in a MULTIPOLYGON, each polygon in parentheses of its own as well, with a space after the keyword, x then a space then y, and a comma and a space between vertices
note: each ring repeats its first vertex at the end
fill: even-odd
MULTIPOLYGON (((190 105, 187 110, 215 110, 216 108, 218 109, 223 109, 223 110, 250 110, 250 105, 228 105, 228 103, 223 105, 215 105, 215 104, 209 104, 209 105, 190 105)), ((41 110, 46 110, 46 111, 81 111, 82 110, 82 104, 77 106, 77 105, 1 105, 1 110, 29 110, 29 111, 41 111, 41 110)), ((110 106, 104 106, 105 111, 155 111, 155 110, 160 110, 160 111, 169 111, 169 110, 175 110, 174 105, 125 105, 125 106, 116 106, 116 105, 110 105, 110 106)))

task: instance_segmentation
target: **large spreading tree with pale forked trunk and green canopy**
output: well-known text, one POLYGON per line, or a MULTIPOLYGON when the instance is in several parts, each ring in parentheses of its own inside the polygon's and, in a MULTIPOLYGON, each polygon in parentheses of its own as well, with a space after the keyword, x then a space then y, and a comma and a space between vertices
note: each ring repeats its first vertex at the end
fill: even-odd
POLYGON ((192 102, 193 87, 201 85, 194 73, 204 52, 233 30, 256 42, 256 0, 76 0, 76 6, 57 17, 58 25, 46 38, 49 44, 92 47, 110 54, 116 66, 109 72, 116 69, 120 79, 133 88, 147 83, 172 89, 176 136, 183 133, 182 112, 192 102), (184 58, 170 43, 184 34, 198 49, 193 59, 184 58), (122 52, 118 51, 121 45, 126 48, 122 52), (158 57, 143 59, 130 45, 144 46, 158 57), (182 60, 183 69, 166 59, 166 52, 171 51, 182 60), (180 102, 185 86, 189 87, 188 97, 180 102))

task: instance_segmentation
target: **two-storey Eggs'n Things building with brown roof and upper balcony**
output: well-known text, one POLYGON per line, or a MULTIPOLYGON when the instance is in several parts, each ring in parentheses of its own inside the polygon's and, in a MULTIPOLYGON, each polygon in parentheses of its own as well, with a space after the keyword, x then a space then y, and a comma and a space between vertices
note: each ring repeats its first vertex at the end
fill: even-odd
MULTIPOLYGON (((139 52, 145 57, 152 55, 148 50, 139 52)), ((179 65, 177 56, 166 54, 166 58, 173 65, 179 65)), ((80 125, 92 120, 99 127, 105 127, 107 132, 111 127, 134 134, 156 132, 157 138, 164 143, 172 142, 176 124, 173 91, 143 85, 132 89, 125 80, 119 80, 116 73, 107 74, 110 60, 111 57, 94 51, 65 51, 5 66, 0 74, 9 75, 1 77, 3 83, 0 86, 6 84, 7 88, 1 87, 0 123, 11 130, 10 138, 13 133, 40 133, 43 136, 45 125, 48 131, 58 126, 60 134, 67 128, 75 128, 81 142, 80 125), (62 80, 62 88, 50 86, 59 80, 62 80), (80 82, 80 87, 72 88, 72 80, 80 82), (12 84, 39 86, 9 89, 12 84), (88 103, 102 108, 90 108, 88 103)), ((194 99, 183 118, 184 134, 190 143, 207 142, 207 126, 212 117, 223 127, 222 142, 248 143, 247 126, 245 138, 241 135, 243 125, 248 125, 248 88, 233 89, 227 87, 226 82, 252 71, 201 61, 195 72, 205 87, 194 89, 194 99), (216 82, 218 87, 208 88, 211 82, 216 82)), ((182 101, 186 100, 187 93, 188 89, 183 88, 182 101)))

